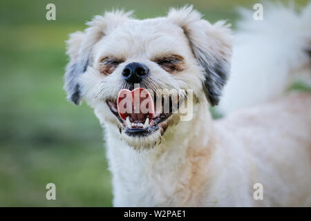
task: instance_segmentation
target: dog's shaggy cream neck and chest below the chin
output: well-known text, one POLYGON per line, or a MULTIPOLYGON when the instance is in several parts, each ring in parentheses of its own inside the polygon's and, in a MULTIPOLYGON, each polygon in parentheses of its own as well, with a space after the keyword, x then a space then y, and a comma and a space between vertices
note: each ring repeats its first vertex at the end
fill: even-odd
POLYGON ((169 127, 161 144, 144 151, 129 147, 115 125, 106 124, 115 206, 196 206, 198 189, 207 186, 214 136, 207 104, 199 104, 195 113, 191 121, 169 127))

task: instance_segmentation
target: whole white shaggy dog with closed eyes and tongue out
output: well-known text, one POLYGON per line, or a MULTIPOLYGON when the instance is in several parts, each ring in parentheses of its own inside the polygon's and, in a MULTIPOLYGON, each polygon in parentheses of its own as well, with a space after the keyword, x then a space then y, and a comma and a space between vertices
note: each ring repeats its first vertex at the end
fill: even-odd
MULTIPOLYGON (((250 37, 247 46, 251 48, 244 48, 247 55, 241 59, 234 58, 232 83, 229 80, 223 97, 229 102, 220 103, 220 110, 228 116, 217 120, 212 119, 209 106, 219 104, 229 79, 234 42, 225 21, 211 24, 191 6, 172 8, 166 17, 144 20, 117 10, 95 16, 83 32, 71 34, 64 89, 74 104, 83 99, 91 106, 104 127, 106 156, 113 175, 113 205, 311 206, 311 94, 271 95, 258 105, 245 98, 243 105, 243 97, 252 98, 253 88, 247 94, 247 89, 232 92, 234 86, 230 86, 240 80, 240 86, 249 84, 262 90, 261 82, 247 82, 252 76, 260 77, 252 73, 258 73, 251 68, 256 62, 254 69, 265 66, 263 70, 269 75, 270 68, 280 72, 274 73, 273 84, 267 88, 270 91, 278 83, 282 84, 278 88, 285 90, 285 84, 277 80, 283 72, 310 73, 310 9, 311 4, 301 15, 289 10, 290 16, 302 24, 301 29, 279 35, 301 34, 290 35, 301 42, 302 48, 294 48, 298 48, 299 58, 291 56, 294 50, 269 55, 273 44, 254 41, 256 26, 240 32, 242 40, 250 37), (259 50, 259 42, 266 50, 259 50), (258 50, 251 51, 254 47, 258 50), (261 53, 265 61, 267 55, 271 62, 248 61, 254 53, 261 53), (283 57, 282 62, 276 63, 274 55, 283 57), (244 65, 247 68, 243 69, 244 65), (150 97, 157 96, 160 89, 178 91, 178 106, 189 102, 190 97, 190 93, 179 91, 191 89, 191 119, 181 120, 182 113, 171 110, 165 114, 138 111, 136 117, 120 113, 124 99, 120 93, 135 99, 135 91, 148 90, 152 109, 156 102, 150 97), (224 111, 226 107, 229 111, 224 111), (259 198, 256 186, 261 186, 259 198)), ((279 12, 279 8, 271 11, 279 12)), ((279 19, 282 23, 285 18, 279 19)), ((273 26, 274 32, 282 32, 286 26, 265 23, 273 26)), ((280 41, 278 49, 288 43, 270 36, 266 40, 280 41)), ((243 48, 234 48, 233 57, 235 50, 243 54, 243 48)))

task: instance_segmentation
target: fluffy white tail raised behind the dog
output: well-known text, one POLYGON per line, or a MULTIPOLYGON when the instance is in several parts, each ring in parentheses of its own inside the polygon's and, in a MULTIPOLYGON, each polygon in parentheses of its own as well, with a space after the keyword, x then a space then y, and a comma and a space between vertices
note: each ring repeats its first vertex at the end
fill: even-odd
POLYGON ((299 77, 311 86, 311 2, 300 12, 281 3, 263 5, 263 20, 253 14, 241 10, 219 106, 223 114, 276 99, 299 77))

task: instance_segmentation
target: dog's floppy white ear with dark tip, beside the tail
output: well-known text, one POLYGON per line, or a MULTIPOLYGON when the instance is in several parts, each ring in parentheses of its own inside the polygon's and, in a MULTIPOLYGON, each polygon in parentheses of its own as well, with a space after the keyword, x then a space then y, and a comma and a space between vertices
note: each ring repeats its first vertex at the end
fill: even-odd
POLYGON ((205 74, 203 88, 211 106, 217 105, 229 77, 232 55, 230 25, 218 21, 212 25, 192 6, 169 11, 167 18, 184 30, 194 57, 205 74))

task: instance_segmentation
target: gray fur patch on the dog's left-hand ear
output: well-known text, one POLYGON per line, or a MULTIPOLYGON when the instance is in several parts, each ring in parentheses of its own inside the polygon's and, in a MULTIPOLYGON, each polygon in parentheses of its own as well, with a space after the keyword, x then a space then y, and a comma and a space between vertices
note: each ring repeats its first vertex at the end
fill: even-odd
POLYGON ((67 92, 67 99, 74 104, 79 104, 81 102, 81 88, 77 79, 79 75, 82 75, 86 72, 88 67, 88 59, 84 59, 84 61, 69 63, 66 67, 66 74, 64 77, 65 86, 64 89, 67 92))

